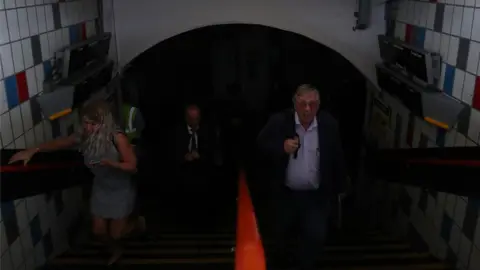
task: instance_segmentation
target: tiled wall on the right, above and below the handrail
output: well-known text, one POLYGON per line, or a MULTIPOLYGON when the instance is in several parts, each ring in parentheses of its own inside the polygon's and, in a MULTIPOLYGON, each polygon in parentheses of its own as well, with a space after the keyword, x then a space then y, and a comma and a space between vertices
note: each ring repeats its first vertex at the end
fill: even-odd
MULTIPOLYGON (((394 32, 410 44, 440 52, 443 65, 438 87, 471 108, 454 130, 443 132, 414 117, 398 100, 384 94, 383 101, 392 108, 392 115, 383 146, 478 147, 480 1, 399 1, 394 32), (393 138, 398 136, 400 145, 394 146, 393 138)), ((413 236, 417 244, 430 248, 458 269, 480 269, 480 198, 383 181, 372 189, 377 194, 377 220, 386 228, 402 236, 413 236)))

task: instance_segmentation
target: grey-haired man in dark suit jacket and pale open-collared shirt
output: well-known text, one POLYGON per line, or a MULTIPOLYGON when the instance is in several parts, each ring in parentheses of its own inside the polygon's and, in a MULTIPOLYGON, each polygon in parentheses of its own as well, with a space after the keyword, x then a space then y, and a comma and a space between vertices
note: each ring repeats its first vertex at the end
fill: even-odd
POLYGON ((293 102, 294 111, 272 116, 258 136, 272 165, 267 180, 276 250, 269 268, 282 269, 292 252, 295 269, 312 270, 325 241, 330 202, 344 192, 347 175, 337 122, 318 110, 318 90, 301 85, 293 102), (289 245, 292 229, 299 243, 289 245))

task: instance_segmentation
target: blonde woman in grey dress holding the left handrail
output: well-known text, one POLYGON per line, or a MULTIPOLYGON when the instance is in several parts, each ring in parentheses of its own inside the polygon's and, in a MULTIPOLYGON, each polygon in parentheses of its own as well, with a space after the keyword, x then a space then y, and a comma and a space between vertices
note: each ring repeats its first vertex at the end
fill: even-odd
POLYGON ((20 151, 10 163, 23 161, 26 164, 37 152, 78 147, 85 165, 94 174, 90 198, 93 234, 112 245, 112 257, 108 262, 112 264, 121 255, 120 238, 135 228, 143 230, 145 227, 144 220, 131 218, 136 196, 131 174, 136 172, 137 160, 107 102, 87 104, 80 116, 82 125, 77 132, 20 151))

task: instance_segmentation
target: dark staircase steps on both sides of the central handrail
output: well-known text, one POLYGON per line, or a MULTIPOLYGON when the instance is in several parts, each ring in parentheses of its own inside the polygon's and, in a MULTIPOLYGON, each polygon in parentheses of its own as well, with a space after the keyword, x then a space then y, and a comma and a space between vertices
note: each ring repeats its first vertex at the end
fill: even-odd
MULTIPOLYGON (((145 197, 148 198, 143 203, 148 205, 145 215, 149 235, 144 239, 126 239, 123 256, 111 267, 126 270, 235 269, 235 195, 206 196, 210 202, 190 195, 179 197, 178 193, 170 196, 152 193, 145 197)), ((270 245, 264 243, 265 249, 270 245)), ((104 250, 100 243, 87 241, 57 256, 47 269, 105 269, 109 256, 104 250)), ((323 254, 319 252, 318 265, 319 269, 338 270, 453 269, 428 252, 415 252, 404 241, 378 231, 332 231, 323 254)))

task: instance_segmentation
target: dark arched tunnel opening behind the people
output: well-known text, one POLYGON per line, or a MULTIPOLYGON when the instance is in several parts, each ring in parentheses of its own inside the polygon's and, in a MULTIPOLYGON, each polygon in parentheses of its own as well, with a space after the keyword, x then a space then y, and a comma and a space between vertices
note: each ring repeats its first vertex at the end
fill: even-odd
POLYGON ((313 84, 323 109, 339 120, 352 172, 356 168, 365 78, 342 55, 299 34, 251 24, 194 29, 137 56, 123 81, 138 94, 150 149, 169 141, 166 131, 181 120, 186 102, 199 103, 214 121, 242 114, 251 141, 269 114, 291 106, 298 85, 313 84))

